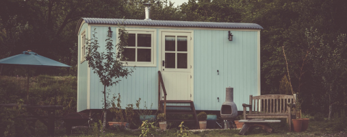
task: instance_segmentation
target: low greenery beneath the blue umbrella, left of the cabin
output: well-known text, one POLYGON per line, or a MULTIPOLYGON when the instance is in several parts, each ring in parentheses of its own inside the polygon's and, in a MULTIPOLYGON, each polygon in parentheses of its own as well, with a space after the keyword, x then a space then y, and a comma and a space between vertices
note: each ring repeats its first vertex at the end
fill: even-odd
MULTIPOLYGON (((18 99, 26 99, 26 77, 0 78, 0 103, 14 103, 18 99)), ((25 102, 27 103, 27 102, 25 102)), ((34 105, 63 105, 57 110, 57 116, 63 116, 77 109, 77 77, 56 77, 39 75, 31 77, 29 83, 29 103, 34 105)), ((38 114, 44 111, 37 110, 38 114)))

